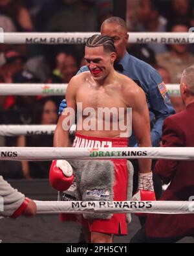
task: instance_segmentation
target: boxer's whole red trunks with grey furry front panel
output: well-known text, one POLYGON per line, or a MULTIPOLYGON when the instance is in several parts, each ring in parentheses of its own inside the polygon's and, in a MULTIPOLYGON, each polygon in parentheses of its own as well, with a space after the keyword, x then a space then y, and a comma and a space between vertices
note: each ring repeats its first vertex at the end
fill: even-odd
MULTIPOLYGON (((89 148, 100 148, 100 147, 127 147, 128 145, 128 138, 109 138, 109 137, 90 137, 86 135, 80 135, 76 133, 76 137, 74 139, 73 147, 89 147, 89 148)), ((83 161, 83 160, 82 160, 83 161)), ((127 183, 128 183, 128 169, 127 169, 127 159, 106 159, 106 160, 85 160, 85 165, 83 165, 83 169, 89 167, 93 164, 95 166, 94 170, 94 179, 86 178, 85 183, 83 182, 83 176, 89 176, 89 172, 83 174, 81 178, 80 176, 82 173, 81 169, 78 169, 77 174, 75 173, 75 180, 72 186, 63 192, 63 196, 61 200, 100 200, 100 201, 125 201, 129 200, 127 198, 127 183), (90 162, 89 162, 90 161, 90 162), (98 162, 97 162, 98 161, 98 162), (108 165, 108 162, 110 163, 108 165), (95 163, 97 163, 95 165, 95 163), (106 167, 107 165, 107 167, 106 167), (113 167, 113 169, 112 169, 113 167), (111 176, 111 170, 113 170, 113 179, 109 182, 106 181, 109 176, 111 176), (110 171, 110 172, 108 172, 110 171), (80 173, 79 173, 80 172, 80 173), (105 173, 108 173, 108 177, 104 176, 105 173), (76 180, 77 179, 77 180, 76 180), (94 180, 93 187, 88 180, 94 180), (108 185, 104 187, 103 180, 105 184, 110 183, 112 187, 110 188, 108 185), (101 182, 102 181, 102 182, 101 182), (112 182, 112 183, 111 183, 112 182), (98 184, 96 184, 98 183, 98 184), (102 183, 102 184, 101 184, 102 183), (100 188, 102 185, 102 188, 100 188), (95 187, 96 186, 96 187, 95 187), (89 197, 90 195, 93 196, 89 197)), ((93 169, 90 168, 92 171, 93 169)), ((62 213, 60 215, 60 219, 62 221, 78 221, 83 226, 89 227, 89 230, 100 232, 100 233, 109 233, 115 235, 127 235, 127 222, 126 222, 126 215, 124 213, 116 213, 116 214, 109 214, 104 216, 95 216, 91 217, 91 213, 89 216, 86 215, 72 215, 62 213), (85 217, 85 218, 84 218, 85 217)), ((102 213, 101 213, 102 215, 102 213)))

